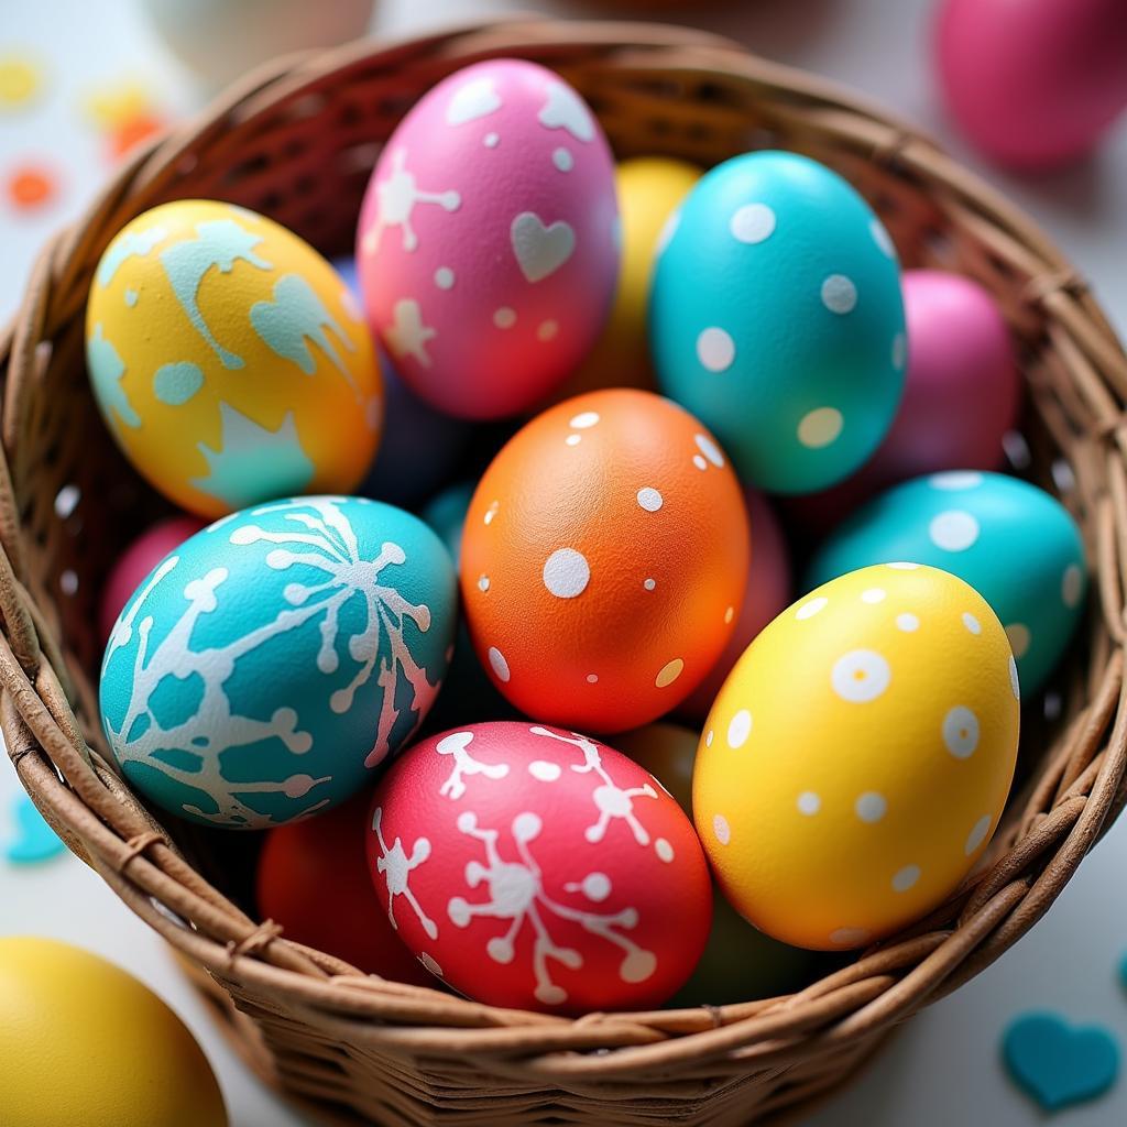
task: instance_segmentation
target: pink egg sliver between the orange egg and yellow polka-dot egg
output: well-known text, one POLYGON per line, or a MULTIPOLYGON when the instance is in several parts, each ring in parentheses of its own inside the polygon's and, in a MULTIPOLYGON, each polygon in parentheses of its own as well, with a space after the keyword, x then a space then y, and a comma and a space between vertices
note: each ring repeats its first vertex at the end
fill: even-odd
POLYGON ((689 720, 704 720, 731 667, 755 636, 790 603, 790 553, 779 518, 766 498, 755 489, 744 490, 744 503, 752 531, 752 566, 747 571, 744 605, 712 672, 676 710, 689 720))

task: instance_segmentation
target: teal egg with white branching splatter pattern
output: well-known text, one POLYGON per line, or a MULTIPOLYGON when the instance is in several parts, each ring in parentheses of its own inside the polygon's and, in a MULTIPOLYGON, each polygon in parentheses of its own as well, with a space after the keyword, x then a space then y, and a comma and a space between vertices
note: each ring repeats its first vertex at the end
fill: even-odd
POLYGON ((103 659, 106 738, 147 798, 265 828, 344 801, 431 708, 458 621, 417 517, 296 497, 216 521, 126 603, 103 659))

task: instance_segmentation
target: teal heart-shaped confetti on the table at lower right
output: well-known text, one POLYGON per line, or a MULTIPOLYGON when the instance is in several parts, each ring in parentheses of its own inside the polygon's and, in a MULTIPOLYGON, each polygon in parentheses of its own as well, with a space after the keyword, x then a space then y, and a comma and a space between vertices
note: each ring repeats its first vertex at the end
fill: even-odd
POLYGON ((1046 1111, 1102 1095, 1119 1075, 1119 1045, 1099 1026, 1026 1013, 1008 1027, 1002 1058, 1014 1083, 1046 1111))

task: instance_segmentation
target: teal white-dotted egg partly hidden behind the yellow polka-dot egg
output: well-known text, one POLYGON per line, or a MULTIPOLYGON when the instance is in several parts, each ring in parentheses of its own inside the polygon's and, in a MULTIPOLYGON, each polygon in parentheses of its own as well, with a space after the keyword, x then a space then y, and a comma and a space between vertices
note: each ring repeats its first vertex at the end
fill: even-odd
POLYGON ((805 589, 900 560, 942 568, 976 588, 1005 627, 1022 694, 1045 684, 1088 587, 1080 529, 1061 502, 1003 473, 916 478, 840 525, 815 553, 805 589))

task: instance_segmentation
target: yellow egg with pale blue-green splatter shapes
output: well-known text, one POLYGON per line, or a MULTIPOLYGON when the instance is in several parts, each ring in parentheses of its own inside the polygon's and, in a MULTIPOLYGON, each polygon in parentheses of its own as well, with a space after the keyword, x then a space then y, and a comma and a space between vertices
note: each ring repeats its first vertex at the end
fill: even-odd
POLYGON ((139 215, 101 256, 86 332, 114 437, 190 512, 348 492, 372 461, 367 325, 336 270, 264 215, 208 199, 139 215))

